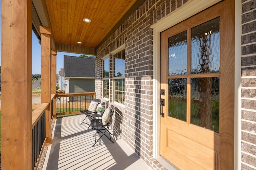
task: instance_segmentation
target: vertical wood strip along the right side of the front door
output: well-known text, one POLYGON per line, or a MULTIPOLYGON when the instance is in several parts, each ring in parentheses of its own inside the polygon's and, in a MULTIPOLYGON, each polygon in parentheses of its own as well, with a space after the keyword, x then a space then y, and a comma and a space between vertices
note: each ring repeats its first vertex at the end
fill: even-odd
MULTIPOLYGON (((234 169, 234 97, 235 97, 235 1, 224 0, 222 17, 220 18, 220 89, 226 95, 220 96, 220 169, 234 169), (226 28, 226 29, 224 29, 226 28), (228 56, 228 57, 223 57, 228 56), (226 69, 224 69, 226 68, 226 69), (229 69, 227 69, 229 68, 229 69), (222 83, 224 82, 224 83, 222 83), (227 95, 228 94, 228 95, 227 95)), ((223 92, 220 92, 220 95, 223 92)))

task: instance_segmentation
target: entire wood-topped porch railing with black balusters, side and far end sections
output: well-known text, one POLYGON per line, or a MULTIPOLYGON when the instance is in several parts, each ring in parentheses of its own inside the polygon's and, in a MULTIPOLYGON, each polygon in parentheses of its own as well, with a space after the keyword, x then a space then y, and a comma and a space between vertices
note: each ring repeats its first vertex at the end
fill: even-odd
POLYGON ((42 103, 32 112, 32 169, 36 169, 40 161, 42 150, 46 145, 46 109, 51 106, 51 120, 56 115, 79 113, 80 110, 88 109, 90 102, 95 98, 95 92, 72 93, 52 95, 51 102, 42 103), (56 103, 54 103, 56 98, 56 103), (56 107, 54 106, 56 105, 56 107))

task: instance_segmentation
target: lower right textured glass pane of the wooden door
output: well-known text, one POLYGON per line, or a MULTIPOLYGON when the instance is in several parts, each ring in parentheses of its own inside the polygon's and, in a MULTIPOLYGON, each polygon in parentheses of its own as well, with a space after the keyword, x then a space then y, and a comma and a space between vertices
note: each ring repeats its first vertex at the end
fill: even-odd
POLYGON ((191 78, 191 124, 219 132, 220 78, 191 78))

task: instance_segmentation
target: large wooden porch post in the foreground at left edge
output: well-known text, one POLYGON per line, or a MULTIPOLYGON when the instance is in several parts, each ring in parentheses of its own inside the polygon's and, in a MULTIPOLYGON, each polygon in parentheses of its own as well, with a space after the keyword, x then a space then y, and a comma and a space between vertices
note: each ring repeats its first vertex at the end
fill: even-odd
POLYGON ((32 169, 32 0, 1 1, 1 168, 32 169))

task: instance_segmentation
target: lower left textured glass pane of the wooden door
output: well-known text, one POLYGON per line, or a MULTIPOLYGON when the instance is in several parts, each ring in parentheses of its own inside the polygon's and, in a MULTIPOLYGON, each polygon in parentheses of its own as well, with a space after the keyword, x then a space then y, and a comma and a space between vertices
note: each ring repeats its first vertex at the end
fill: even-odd
POLYGON ((169 79, 168 116, 186 121, 187 119, 187 80, 169 79))

